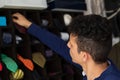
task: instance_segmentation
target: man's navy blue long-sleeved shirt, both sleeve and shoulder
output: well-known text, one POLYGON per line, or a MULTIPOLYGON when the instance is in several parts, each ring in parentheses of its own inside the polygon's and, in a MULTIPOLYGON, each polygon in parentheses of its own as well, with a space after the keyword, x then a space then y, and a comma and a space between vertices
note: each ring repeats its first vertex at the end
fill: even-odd
MULTIPOLYGON (((42 29, 40 26, 37 26, 34 23, 31 24, 27 31, 31 35, 38 38, 46 46, 54 50, 57 54, 62 56, 66 61, 82 70, 80 65, 72 62, 69 54, 69 48, 67 47, 67 43, 64 40, 50 33, 46 29, 42 29)), ((83 80, 87 80, 87 78, 84 77, 83 80)), ((120 72, 114 66, 114 64, 110 62, 109 67, 95 80, 120 80, 120 72)))

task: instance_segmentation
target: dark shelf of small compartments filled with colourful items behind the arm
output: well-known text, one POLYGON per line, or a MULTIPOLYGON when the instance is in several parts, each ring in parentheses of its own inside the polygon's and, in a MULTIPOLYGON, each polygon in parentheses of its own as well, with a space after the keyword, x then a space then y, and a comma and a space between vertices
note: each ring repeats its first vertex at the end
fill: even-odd
POLYGON ((33 23, 49 30, 58 37, 60 37, 60 32, 67 31, 67 26, 63 20, 64 14, 70 14, 72 17, 82 14, 49 10, 0 9, 0 16, 6 18, 6 26, 0 26, 1 80, 13 80, 14 78, 21 78, 21 80, 82 80, 81 73, 75 67, 37 38, 28 34, 26 29, 12 22, 12 14, 15 12, 20 12, 33 23), (41 53, 43 57, 34 55, 36 58, 34 62, 32 56, 35 52, 41 53), (2 55, 5 55, 6 58, 2 55), (10 60, 7 61, 8 59, 10 60), (42 61, 40 63, 37 60, 44 60, 45 63, 42 61), (27 61, 31 65, 26 64, 27 61), (41 64, 44 65, 41 67, 41 64), (17 68, 17 71, 10 71, 13 69, 10 67, 11 65, 17 68))

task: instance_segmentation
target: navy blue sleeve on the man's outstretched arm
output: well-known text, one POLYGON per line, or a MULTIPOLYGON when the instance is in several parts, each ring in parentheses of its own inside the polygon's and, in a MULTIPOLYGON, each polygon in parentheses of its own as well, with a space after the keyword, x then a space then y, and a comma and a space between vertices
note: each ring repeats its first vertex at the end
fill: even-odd
POLYGON ((69 54, 69 48, 67 43, 56 35, 50 33, 46 29, 42 29, 36 24, 31 24, 28 28, 28 33, 38 38, 46 46, 54 50, 57 54, 62 56, 66 61, 82 69, 80 65, 72 62, 72 59, 69 54))

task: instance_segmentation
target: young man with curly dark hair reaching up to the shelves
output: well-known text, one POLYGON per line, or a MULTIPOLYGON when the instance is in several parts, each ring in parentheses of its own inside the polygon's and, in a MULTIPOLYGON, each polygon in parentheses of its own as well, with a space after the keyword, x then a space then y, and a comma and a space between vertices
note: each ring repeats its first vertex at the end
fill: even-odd
POLYGON ((69 25, 68 44, 15 13, 13 22, 27 28, 28 33, 61 55, 71 64, 83 69, 83 80, 119 80, 120 72, 107 58, 112 47, 112 32, 106 18, 99 15, 78 16, 69 25), (14 18, 16 17, 16 18, 14 18))

